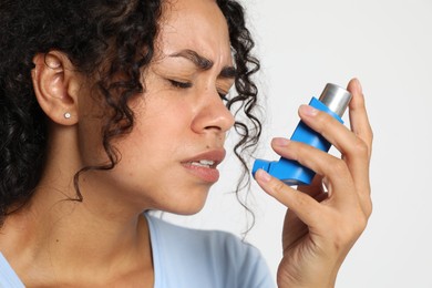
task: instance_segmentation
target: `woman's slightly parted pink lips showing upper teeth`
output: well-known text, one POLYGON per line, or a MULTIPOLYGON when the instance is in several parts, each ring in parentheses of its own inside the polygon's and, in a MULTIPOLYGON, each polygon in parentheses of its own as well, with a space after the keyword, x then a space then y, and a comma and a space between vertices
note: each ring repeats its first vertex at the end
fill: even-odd
POLYGON ((215 183, 219 179, 219 171, 216 167, 223 162, 225 154, 225 150, 199 153, 192 158, 182 161, 182 165, 195 177, 206 183, 215 183))

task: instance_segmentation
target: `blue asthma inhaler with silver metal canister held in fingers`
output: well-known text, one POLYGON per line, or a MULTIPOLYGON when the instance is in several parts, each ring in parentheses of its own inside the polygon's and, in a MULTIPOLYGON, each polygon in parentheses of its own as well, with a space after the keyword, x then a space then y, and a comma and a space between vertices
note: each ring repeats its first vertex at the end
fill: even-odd
MULTIPOLYGON (((323 111, 340 123, 343 123, 342 115, 351 101, 351 93, 347 90, 328 83, 321 93, 319 100, 312 97, 309 105, 323 111)), ((292 141, 309 144, 323 152, 330 150, 331 144, 320 134, 308 127, 302 121, 297 125, 292 136, 292 141)), ((288 185, 309 185, 312 182, 315 172, 302 166, 297 161, 280 157, 279 161, 256 160, 253 167, 253 175, 259 169, 265 169, 274 177, 285 182, 288 185)))

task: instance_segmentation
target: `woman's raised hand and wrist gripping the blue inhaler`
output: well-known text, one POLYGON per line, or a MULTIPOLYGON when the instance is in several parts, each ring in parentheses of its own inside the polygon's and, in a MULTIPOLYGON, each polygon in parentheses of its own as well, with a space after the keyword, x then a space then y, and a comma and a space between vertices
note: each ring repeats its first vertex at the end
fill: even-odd
POLYGON ((310 106, 299 110, 302 121, 332 143, 341 152, 341 158, 302 143, 272 141, 278 154, 317 173, 312 185, 299 186, 302 192, 299 193, 261 169, 256 173, 263 189, 289 207, 284 225, 279 287, 333 287, 344 257, 372 212, 369 183, 372 131, 359 81, 351 80, 348 90, 352 94, 351 130, 310 106))

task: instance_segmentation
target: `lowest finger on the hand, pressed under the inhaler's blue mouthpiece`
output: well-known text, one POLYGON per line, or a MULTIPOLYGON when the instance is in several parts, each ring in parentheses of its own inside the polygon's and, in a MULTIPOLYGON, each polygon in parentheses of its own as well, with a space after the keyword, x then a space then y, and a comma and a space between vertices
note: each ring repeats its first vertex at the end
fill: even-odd
POLYGON ((316 227, 319 224, 321 207, 312 197, 289 187, 264 169, 256 172, 255 179, 268 195, 291 209, 306 225, 316 227))

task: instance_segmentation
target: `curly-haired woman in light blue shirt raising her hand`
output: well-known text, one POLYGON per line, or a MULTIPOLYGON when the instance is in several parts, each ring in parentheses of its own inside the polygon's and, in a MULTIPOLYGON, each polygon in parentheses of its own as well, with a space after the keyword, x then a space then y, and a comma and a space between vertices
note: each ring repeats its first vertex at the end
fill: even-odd
MULTIPOLYGON (((197 213, 218 179, 226 132, 240 133, 240 158, 259 136, 250 80, 259 64, 240 6, 0 7, 0 275, 27 287, 271 287, 254 247, 143 214, 197 213), (238 95, 227 96, 233 85, 238 95), (235 121, 236 103, 249 123, 235 121)), ((274 150, 316 171, 315 184, 297 193, 256 173, 290 208, 279 287, 332 287, 371 213, 372 133, 359 82, 348 89, 352 131, 299 110, 342 160, 277 138, 274 150)))

